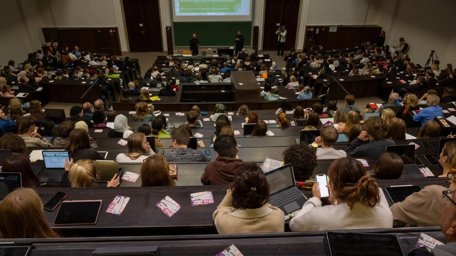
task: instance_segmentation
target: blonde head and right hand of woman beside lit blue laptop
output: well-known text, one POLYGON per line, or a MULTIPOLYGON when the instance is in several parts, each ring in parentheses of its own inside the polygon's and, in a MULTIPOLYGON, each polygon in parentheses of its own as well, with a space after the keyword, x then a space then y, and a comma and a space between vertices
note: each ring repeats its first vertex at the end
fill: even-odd
MULTIPOLYGON (((117 174, 108 182, 107 187, 119 186, 119 178, 117 174)), ((65 173, 62 177, 62 182, 66 182, 65 186, 72 188, 94 188, 97 187, 98 174, 95 164, 92 160, 80 159, 73 164, 73 159, 68 163, 65 159, 65 173)), ((62 184, 61 182, 61 184, 62 184)))

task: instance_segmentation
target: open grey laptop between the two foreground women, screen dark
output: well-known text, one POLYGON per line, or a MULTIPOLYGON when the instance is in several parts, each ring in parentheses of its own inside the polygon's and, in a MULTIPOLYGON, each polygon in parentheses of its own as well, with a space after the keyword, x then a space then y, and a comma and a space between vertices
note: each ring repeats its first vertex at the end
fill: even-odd
POLYGON ((265 174, 270 187, 269 204, 280 208, 285 214, 302 208, 307 198, 296 187, 291 164, 286 164, 265 174))

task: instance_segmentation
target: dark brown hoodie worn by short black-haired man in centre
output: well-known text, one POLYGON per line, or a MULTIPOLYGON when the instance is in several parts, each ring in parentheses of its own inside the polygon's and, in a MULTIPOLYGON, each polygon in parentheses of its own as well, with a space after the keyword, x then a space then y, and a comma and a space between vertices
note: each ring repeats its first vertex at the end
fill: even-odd
POLYGON ((218 156, 214 162, 206 165, 201 176, 203 185, 231 185, 234 174, 244 164, 241 159, 218 156))

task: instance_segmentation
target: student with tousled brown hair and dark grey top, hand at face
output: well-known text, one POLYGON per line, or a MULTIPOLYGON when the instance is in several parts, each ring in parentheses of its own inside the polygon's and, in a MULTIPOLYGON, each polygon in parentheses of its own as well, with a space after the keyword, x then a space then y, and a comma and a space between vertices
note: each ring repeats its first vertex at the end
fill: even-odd
MULTIPOLYGON (((308 122, 307 122, 308 123, 308 122)), ((364 121, 365 131, 361 132, 348 146, 345 152, 349 157, 379 157, 385 153, 386 146, 396 143, 386 139, 388 126, 382 118, 370 117, 364 121)))

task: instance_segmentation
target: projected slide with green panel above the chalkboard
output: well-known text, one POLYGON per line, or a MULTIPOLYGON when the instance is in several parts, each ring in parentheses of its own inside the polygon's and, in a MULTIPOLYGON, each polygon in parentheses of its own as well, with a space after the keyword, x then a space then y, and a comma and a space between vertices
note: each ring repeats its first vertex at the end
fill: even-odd
POLYGON ((174 0, 174 21, 251 20, 251 0, 174 0))

